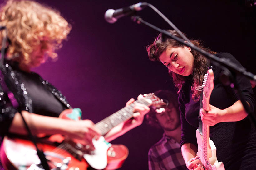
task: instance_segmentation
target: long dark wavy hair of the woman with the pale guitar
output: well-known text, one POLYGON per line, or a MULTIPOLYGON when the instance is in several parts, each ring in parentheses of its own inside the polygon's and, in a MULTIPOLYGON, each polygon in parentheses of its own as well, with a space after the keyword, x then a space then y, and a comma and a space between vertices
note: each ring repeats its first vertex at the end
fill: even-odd
MULTIPOLYGON (((169 33, 175 35, 176 37, 179 37, 180 39, 182 39, 182 37, 178 34, 177 31, 175 31, 175 30, 167 30, 167 31, 169 33)), ((182 34, 184 34, 184 33, 182 33, 182 34)), ((190 41, 196 47, 199 47, 199 48, 207 51, 208 53, 216 54, 216 52, 211 51, 209 48, 204 47, 202 45, 201 41, 193 40, 193 39, 191 39, 190 41)), ((184 47, 184 46, 185 46, 184 44, 176 41, 175 39, 163 37, 162 33, 161 33, 155 38, 155 41, 152 44, 147 45, 146 48, 147 48, 149 59, 151 61, 160 61, 159 57, 167 49, 167 47, 175 47, 176 48, 176 47, 184 47)), ((199 85, 202 85, 203 79, 204 79, 204 74, 207 72, 207 68, 209 67, 210 62, 201 53, 195 51, 192 48, 191 48, 191 53, 194 56, 194 70, 193 70, 193 74, 192 74, 193 85, 191 86, 191 90, 192 90, 192 99, 196 102, 199 100, 200 93, 201 93, 200 91, 196 90, 196 87, 199 85)), ((170 76, 172 76, 173 83, 179 93, 182 88, 182 85, 185 82, 185 80, 187 79, 187 77, 173 73, 170 70, 169 70, 169 74, 170 74, 170 76)))

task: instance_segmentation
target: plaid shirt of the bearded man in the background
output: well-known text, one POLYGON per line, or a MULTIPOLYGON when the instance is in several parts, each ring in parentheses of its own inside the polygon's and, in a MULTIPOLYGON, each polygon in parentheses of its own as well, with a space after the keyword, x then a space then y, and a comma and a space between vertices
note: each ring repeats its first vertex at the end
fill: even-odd
POLYGON ((184 170, 187 169, 181 154, 180 144, 173 138, 163 135, 148 152, 149 170, 184 170))

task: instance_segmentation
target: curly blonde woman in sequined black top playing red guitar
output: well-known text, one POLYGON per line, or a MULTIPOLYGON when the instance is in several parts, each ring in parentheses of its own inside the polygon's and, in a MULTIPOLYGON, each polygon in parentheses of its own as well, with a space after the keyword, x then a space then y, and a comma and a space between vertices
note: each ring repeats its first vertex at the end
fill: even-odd
MULTIPOLYGON (((31 68, 40 66, 47 57, 57 57, 55 49, 61 47, 71 31, 71 25, 58 11, 26 0, 9 0, 1 8, 0 25, 6 26, 10 40, 4 76, 11 82, 9 90, 20 101, 18 108, 12 107, 0 86, 0 135, 27 134, 22 117, 18 114, 21 112, 32 134, 62 134, 84 140, 89 150, 94 150, 92 138, 100 136, 94 123, 91 120, 75 122, 58 118, 63 110, 71 108, 66 97, 41 76, 31 72, 31 68)), ((4 32, 0 34, 0 39, 3 37, 4 32)), ((130 99, 126 104, 133 101, 130 99)), ((109 131, 105 135, 106 140, 113 140, 140 125, 149 108, 138 103, 133 111, 136 112, 134 119, 109 131)))

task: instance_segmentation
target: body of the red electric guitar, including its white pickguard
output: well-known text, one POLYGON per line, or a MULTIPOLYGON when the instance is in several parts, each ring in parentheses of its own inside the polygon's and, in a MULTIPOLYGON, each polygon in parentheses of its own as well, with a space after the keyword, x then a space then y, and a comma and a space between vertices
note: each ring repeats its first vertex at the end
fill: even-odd
MULTIPOLYGON (((66 109, 59 118, 80 120, 80 109, 66 109)), ((39 134, 38 136, 44 136, 39 134)), ((68 158, 68 169, 75 170, 95 169, 114 170, 122 166, 128 156, 128 148, 124 145, 111 145, 101 136, 98 141, 93 140, 94 154, 84 154, 76 148, 77 140, 65 141, 62 135, 52 135, 49 138, 38 139, 38 147, 44 151, 51 169, 56 168, 57 163, 63 163, 68 158), (57 144, 57 145, 56 145, 57 144), (58 146, 59 145, 59 146, 58 146), (83 158, 84 157, 84 158, 83 158), (88 159, 88 160, 87 160, 88 159)), ((5 136, 1 149, 0 160, 5 169, 28 169, 32 164, 39 164, 34 144, 27 137, 5 136), (23 138, 23 139, 22 139, 23 138)))

